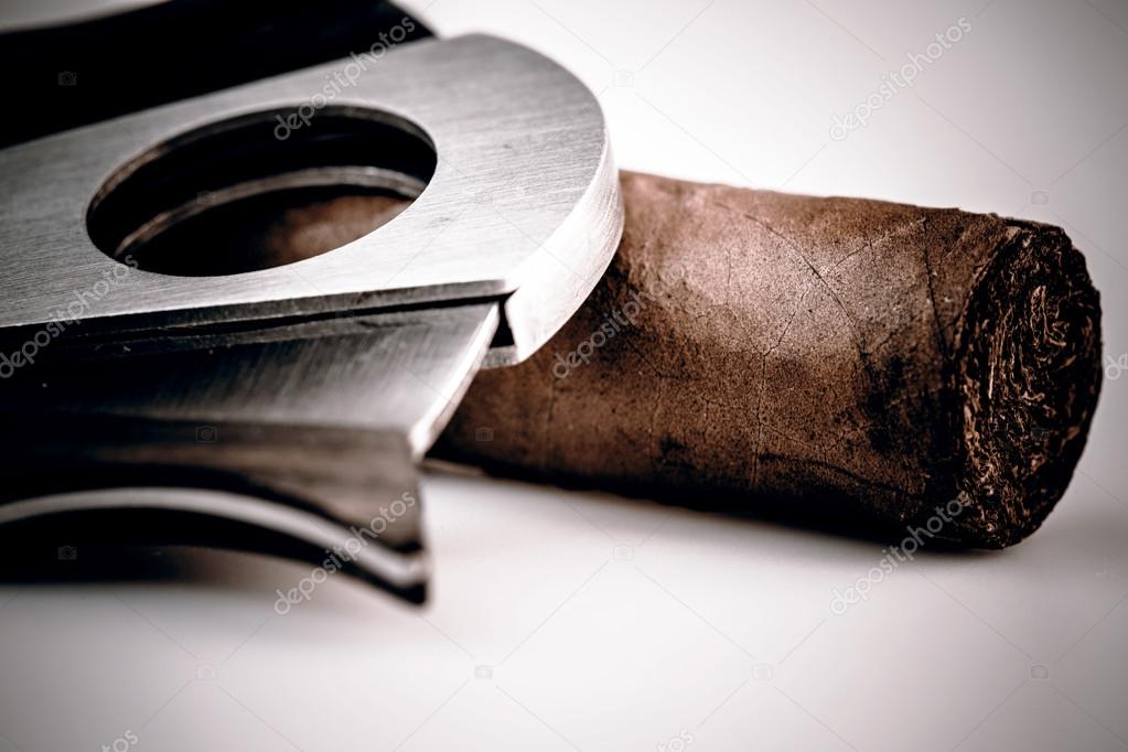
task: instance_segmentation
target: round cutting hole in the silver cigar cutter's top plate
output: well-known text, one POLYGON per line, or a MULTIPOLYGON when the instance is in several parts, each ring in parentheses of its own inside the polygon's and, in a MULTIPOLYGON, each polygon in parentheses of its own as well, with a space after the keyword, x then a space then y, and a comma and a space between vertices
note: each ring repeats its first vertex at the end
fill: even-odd
POLYGON ((214 123, 123 166, 90 203, 90 239, 162 274, 265 269, 368 235, 434 174, 431 140, 400 117, 326 108, 283 127, 292 115, 214 123))

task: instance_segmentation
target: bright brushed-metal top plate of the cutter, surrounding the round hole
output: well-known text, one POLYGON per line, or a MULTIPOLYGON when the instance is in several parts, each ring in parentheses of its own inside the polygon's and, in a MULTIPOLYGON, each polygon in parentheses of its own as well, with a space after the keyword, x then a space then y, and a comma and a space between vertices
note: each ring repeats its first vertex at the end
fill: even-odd
MULTIPOLYGON (((350 62, 0 152, 3 338, 18 342, 47 325, 52 311, 118 266, 91 242, 86 218, 123 165, 209 124, 294 112, 350 62)), ((504 306, 491 364, 515 362, 543 344, 590 292, 622 233, 598 101, 540 54, 488 36, 405 44, 368 68, 332 106, 387 113, 433 142, 437 169, 412 206, 351 244, 288 266, 221 277, 130 269, 68 337, 490 299, 504 306)))

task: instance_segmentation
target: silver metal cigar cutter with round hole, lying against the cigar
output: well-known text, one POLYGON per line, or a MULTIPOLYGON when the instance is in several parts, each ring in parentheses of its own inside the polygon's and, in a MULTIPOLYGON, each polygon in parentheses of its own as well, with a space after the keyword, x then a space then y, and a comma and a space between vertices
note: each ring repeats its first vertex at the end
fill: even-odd
POLYGON ((413 601, 418 461, 623 229, 596 98, 490 36, 11 147, 0 175, 3 550, 233 547, 413 601))

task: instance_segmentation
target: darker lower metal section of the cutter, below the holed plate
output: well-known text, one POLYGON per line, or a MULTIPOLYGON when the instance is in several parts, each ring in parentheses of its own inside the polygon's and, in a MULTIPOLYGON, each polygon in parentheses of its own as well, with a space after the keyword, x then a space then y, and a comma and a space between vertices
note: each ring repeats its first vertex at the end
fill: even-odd
POLYGON ((20 371, 0 389, 0 540, 221 543, 319 563, 379 517, 351 569, 422 600, 416 463, 497 320, 488 302, 389 312, 20 371))

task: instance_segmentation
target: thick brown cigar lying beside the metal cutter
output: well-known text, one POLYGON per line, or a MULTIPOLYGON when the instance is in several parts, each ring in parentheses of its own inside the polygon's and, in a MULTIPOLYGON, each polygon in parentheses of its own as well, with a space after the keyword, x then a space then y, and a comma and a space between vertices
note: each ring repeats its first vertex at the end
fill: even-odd
POLYGON ((1065 232, 622 183, 605 277, 536 355, 477 377, 439 455, 737 514, 927 523, 963 546, 1042 523, 1101 379, 1099 295, 1065 232))

